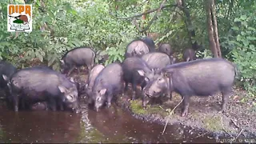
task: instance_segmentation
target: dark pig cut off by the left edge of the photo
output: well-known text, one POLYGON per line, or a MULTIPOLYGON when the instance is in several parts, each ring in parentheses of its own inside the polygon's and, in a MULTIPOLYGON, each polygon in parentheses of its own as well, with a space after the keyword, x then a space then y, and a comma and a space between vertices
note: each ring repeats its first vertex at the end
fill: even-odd
POLYGON ((10 90, 7 86, 12 74, 17 71, 17 68, 10 62, 0 61, 0 88, 5 91, 6 98, 9 98, 10 90))

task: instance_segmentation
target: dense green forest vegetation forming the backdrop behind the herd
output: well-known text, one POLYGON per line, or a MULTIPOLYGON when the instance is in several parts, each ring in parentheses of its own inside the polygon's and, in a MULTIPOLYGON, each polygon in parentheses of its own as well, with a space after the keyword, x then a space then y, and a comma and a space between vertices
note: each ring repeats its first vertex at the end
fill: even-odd
MULTIPOLYGON (((98 59, 102 54, 109 54, 106 64, 122 61, 128 42, 146 34, 154 35, 156 43, 170 42, 178 57, 184 48, 194 44, 198 57, 213 55, 204 1, 26 0, 33 4, 30 34, 7 32, 7 4, 12 2, 24 3, 1 2, 0 58, 18 67, 29 66, 37 58, 58 70, 59 58, 75 46, 93 46, 98 59), (136 14, 139 15, 133 17, 136 14)), ((255 96, 256 2, 215 0, 214 5, 222 58, 238 66, 239 83, 255 96)))

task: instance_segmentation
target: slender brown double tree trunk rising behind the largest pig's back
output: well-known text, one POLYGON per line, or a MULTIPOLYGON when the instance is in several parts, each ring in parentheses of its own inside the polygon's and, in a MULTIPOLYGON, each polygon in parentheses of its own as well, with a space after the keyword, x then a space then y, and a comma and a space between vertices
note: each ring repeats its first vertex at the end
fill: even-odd
POLYGON ((214 0, 207 0, 205 2, 210 50, 214 54, 214 58, 222 58, 222 53, 218 42, 218 28, 217 19, 215 16, 214 0))

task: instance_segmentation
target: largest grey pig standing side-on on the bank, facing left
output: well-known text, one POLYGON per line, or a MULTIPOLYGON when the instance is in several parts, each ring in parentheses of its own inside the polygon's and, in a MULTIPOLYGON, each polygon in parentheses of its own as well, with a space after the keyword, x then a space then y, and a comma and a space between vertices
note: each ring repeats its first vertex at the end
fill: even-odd
POLYGON ((150 97, 169 91, 177 92, 184 98, 182 116, 188 112, 191 96, 209 96, 222 92, 222 109, 226 109, 236 68, 222 58, 207 58, 191 62, 181 62, 166 66, 162 74, 151 81, 143 90, 150 97))

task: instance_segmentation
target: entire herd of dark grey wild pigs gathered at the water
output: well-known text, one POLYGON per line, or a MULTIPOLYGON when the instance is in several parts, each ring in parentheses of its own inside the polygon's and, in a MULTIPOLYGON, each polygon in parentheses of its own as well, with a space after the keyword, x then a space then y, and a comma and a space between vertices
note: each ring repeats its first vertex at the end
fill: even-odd
POLYGON ((184 62, 176 62, 174 50, 168 43, 156 49, 148 37, 135 39, 126 47, 123 62, 107 66, 95 65, 95 52, 90 47, 78 47, 62 56, 61 72, 48 66, 33 66, 17 70, 10 62, 0 62, 0 86, 6 93, 6 101, 14 111, 30 110, 76 110, 81 90, 88 97, 89 105, 99 110, 111 106, 115 98, 122 97, 132 86, 131 99, 142 95, 142 106, 152 99, 169 97, 172 92, 180 94, 182 116, 188 113, 191 96, 209 96, 222 93, 222 108, 234 85, 236 67, 222 58, 197 59, 193 49, 183 53, 184 62), (74 68, 87 66, 89 76, 81 88, 74 78, 69 78, 74 68), (137 86, 142 94, 138 94, 137 86), (80 88, 79 88, 80 87, 80 88))

